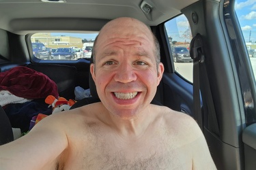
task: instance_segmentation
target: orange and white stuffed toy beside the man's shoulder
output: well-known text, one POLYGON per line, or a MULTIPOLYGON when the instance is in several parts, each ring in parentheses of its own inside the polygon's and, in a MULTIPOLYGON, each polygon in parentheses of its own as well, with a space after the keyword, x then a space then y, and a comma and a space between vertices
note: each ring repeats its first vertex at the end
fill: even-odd
POLYGON ((59 99, 56 99, 53 95, 48 95, 45 99, 45 103, 51 105, 53 107, 53 114, 57 112, 62 112, 69 110, 76 101, 72 99, 65 99, 64 97, 59 97, 59 99))

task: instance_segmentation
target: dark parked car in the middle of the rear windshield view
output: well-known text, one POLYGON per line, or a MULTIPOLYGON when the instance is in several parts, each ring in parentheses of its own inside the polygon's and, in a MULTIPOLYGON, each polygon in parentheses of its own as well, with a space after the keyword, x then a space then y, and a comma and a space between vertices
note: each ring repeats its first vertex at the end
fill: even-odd
POLYGON ((73 48, 57 48, 51 58, 53 60, 73 60, 76 58, 76 51, 73 48))

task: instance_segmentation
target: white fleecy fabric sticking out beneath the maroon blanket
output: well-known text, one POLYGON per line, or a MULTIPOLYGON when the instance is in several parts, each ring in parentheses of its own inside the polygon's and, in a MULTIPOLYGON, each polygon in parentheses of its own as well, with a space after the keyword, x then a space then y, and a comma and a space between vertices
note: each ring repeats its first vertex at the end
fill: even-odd
POLYGON ((10 103, 25 103, 31 101, 31 99, 25 99, 23 97, 17 97, 8 90, 0 90, 0 105, 3 107, 10 103))

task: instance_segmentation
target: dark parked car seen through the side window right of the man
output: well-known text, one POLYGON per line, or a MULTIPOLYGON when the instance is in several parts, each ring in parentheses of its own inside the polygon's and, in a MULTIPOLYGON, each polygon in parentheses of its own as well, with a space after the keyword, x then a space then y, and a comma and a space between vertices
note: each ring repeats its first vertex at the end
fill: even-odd
POLYGON ((173 61, 176 62, 193 62, 190 57, 188 48, 186 47, 172 47, 173 61))

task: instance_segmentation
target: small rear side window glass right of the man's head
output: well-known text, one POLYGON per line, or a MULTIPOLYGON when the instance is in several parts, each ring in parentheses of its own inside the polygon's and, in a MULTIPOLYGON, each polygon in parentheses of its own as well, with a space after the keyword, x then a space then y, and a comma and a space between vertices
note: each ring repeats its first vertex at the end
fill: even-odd
POLYGON ((193 59, 189 54, 190 41, 193 37, 186 16, 182 14, 165 22, 165 29, 175 71, 189 82, 193 82, 193 59))

